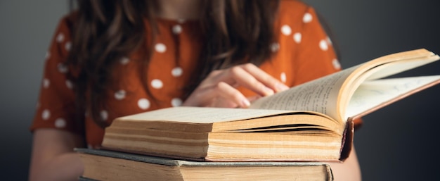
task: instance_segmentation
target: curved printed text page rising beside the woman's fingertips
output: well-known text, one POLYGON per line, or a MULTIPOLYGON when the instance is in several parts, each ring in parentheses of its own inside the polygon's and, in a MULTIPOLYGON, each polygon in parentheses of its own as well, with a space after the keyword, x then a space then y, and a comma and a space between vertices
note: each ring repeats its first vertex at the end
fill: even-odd
POLYGON ((250 108, 316 111, 339 120, 337 99, 344 81, 358 66, 306 82, 252 102, 250 108))

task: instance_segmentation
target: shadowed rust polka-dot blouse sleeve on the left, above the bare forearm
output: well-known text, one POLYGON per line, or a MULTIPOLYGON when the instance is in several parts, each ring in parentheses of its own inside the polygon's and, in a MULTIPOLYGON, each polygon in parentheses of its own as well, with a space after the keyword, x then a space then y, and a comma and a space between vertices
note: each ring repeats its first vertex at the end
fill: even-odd
POLYGON ((70 28, 65 17, 58 23, 46 53, 44 75, 31 131, 53 128, 77 134, 83 132, 82 120, 75 118, 75 93, 72 90, 74 85, 67 78, 70 68, 65 65, 70 46, 70 28))

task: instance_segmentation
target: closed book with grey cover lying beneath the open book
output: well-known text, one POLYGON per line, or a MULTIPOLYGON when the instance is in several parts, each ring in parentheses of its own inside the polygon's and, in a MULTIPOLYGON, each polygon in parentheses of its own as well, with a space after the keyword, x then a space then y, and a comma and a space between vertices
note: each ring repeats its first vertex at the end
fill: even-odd
POLYGON ((333 180, 320 162, 200 162, 118 151, 75 149, 84 163, 80 180, 333 180))

